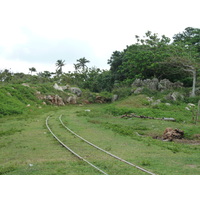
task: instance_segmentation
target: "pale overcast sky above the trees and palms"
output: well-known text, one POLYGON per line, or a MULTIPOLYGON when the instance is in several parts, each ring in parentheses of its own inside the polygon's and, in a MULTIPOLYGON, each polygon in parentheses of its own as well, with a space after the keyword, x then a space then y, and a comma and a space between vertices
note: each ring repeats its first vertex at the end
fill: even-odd
POLYGON ((115 50, 148 30, 172 37, 200 28, 199 0, 1 0, 0 70, 28 73, 64 71, 82 57, 89 66, 109 69, 115 50))

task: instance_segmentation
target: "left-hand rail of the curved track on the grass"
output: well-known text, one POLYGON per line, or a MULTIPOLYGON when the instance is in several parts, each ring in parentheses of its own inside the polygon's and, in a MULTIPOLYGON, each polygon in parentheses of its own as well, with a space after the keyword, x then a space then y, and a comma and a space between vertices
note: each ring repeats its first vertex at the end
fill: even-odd
POLYGON ((77 153, 75 153, 73 150, 71 150, 67 145, 65 145, 54 133, 53 131, 50 129, 49 125, 48 125, 48 120, 49 120, 48 116, 46 118, 46 127, 48 128, 49 132, 53 135, 53 137, 63 146, 65 147, 68 151, 70 151, 72 154, 74 154, 75 156, 77 156, 79 159, 85 161, 86 163, 88 163, 90 166, 92 166, 93 168, 95 168, 96 170, 100 171, 102 174, 108 175, 106 172, 104 172, 103 170, 101 170, 100 168, 98 168, 97 166, 93 165, 92 163, 90 163, 88 160, 84 159, 83 157, 81 157, 80 155, 78 155, 77 153))

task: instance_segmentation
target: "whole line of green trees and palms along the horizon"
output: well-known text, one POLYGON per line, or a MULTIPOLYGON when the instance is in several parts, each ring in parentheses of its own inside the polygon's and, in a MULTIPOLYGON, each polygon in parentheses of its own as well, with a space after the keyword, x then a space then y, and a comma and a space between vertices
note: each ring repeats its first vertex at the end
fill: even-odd
POLYGON ((180 81, 184 86, 193 86, 195 95, 196 80, 200 72, 200 29, 186 28, 175 34, 173 41, 165 35, 159 37, 148 31, 145 36, 135 36, 137 42, 123 51, 114 51, 108 60, 110 70, 89 68, 90 61, 85 57, 74 64, 74 71, 63 73, 64 60, 57 60, 55 72, 40 72, 35 68, 31 74, 0 71, 1 83, 45 83, 58 81, 61 84, 76 85, 92 92, 111 92, 120 86, 130 86, 137 79, 167 78, 180 81))

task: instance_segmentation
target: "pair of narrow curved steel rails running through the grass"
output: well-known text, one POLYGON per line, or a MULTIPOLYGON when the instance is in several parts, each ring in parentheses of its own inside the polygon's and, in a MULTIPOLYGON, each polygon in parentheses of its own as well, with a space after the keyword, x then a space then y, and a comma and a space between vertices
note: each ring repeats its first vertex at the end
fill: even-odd
MULTIPOLYGON (((50 116, 49 116, 49 117, 50 117, 50 116)), ((71 150, 68 146, 66 146, 66 145, 53 133, 53 131, 50 129, 50 127, 49 127, 49 125, 48 125, 48 119, 49 119, 49 117, 47 117, 47 119, 46 119, 46 126, 47 126, 48 130, 51 132, 51 134, 53 135, 53 137, 54 137, 62 146, 64 146, 68 151, 70 151, 72 154, 74 154, 75 156, 77 156, 79 159, 85 161, 85 162, 88 163, 90 166, 92 166, 93 168, 95 168, 96 170, 98 170, 99 172, 101 172, 102 174, 106 174, 106 175, 107 175, 107 173, 104 172, 103 170, 101 170, 99 167, 97 167, 97 166, 95 166, 94 164, 90 163, 89 161, 87 161, 86 159, 84 159, 83 157, 81 157, 80 155, 78 155, 77 153, 75 153, 73 150, 71 150)), ((131 162, 129 162, 129 161, 126 161, 126 160, 124 160, 124 159, 122 159, 122 158, 120 158, 120 157, 118 157, 118 156, 116 156, 116 155, 114 155, 114 154, 112 154, 112 153, 110 153, 110 152, 108 152, 108 151, 106 151, 106 150, 104 150, 104 149, 102 149, 102 148, 96 146, 95 144, 89 142, 88 140, 84 139, 84 138, 81 137, 80 135, 76 134, 75 132, 73 132, 69 127, 67 127, 67 126, 63 123, 63 121, 62 121, 62 115, 60 115, 59 121, 60 121, 60 123, 62 124, 62 126, 63 126, 65 129, 67 129, 70 133, 72 133, 74 136, 76 136, 77 138, 81 139, 82 141, 84 141, 84 142, 87 143, 88 145, 94 147, 95 149, 98 149, 99 151, 105 153, 106 155, 109 155, 109 156, 111 156, 112 158, 114 158, 114 159, 116 159, 116 160, 118 160, 118 161, 121 161, 121 162, 123 162, 123 163, 126 163, 127 165, 129 165, 129 166, 131 166, 131 167, 137 168, 138 170, 143 171, 143 172, 145 172, 145 173, 147 173, 147 174, 156 175, 156 174, 154 174, 154 173, 152 173, 152 172, 150 172, 150 171, 148 171, 148 170, 146 170, 146 169, 144 169, 144 168, 142 168, 142 167, 140 167, 140 166, 137 166, 137 165, 135 165, 135 164, 133 164, 133 163, 131 163, 131 162)))

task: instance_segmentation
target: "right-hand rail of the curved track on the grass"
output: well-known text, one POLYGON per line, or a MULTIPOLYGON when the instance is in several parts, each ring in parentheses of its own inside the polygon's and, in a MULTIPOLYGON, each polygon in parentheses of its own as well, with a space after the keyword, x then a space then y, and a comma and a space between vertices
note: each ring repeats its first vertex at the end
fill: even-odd
POLYGON ((133 167, 135 167, 135 168, 137 168, 137 169, 139 169, 139 170, 141 170, 141 171, 143 171, 143 172, 146 172, 146 173, 151 174, 151 175, 156 175, 155 173, 152 173, 152 172, 150 172, 150 171, 148 171, 148 170, 146 170, 146 169, 144 169, 144 168, 142 168, 142 167, 139 167, 139 166, 137 166, 137 165, 135 165, 135 164, 133 164, 133 163, 131 163, 131 162, 128 162, 128 161, 126 161, 126 160, 124 160, 124 159, 122 159, 122 158, 120 158, 120 157, 118 157, 118 156, 116 156, 116 155, 114 155, 114 154, 112 154, 112 153, 110 153, 110 152, 108 152, 108 151, 106 151, 106 150, 104 150, 104 149, 102 149, 102 148, 100 148, 100 147, 98 147, 98 146, 92 144, 92 143, 89 142, 88 140, 82 138, 80 135, 78 135, 78 134, 76 134, 75 132, 73 132, 71 129, 69 129, 69 128, 63 123, 63 121, 62 121, 62 115, 60 115, 59 120, 60 120, 61 124, 63 125, 63 127, 65 127, 69 132, 71 132, 72 134, 74 134, 75 136, 77 136, 78 138, 80 138, 81 140, 83 140, 84 142, 88 143, 89 145, 95 147, 96 149, 99 149, 100 151, 103 151, 104 153, 106 153, 106 154, 112 156, 113 158, 116 158, 117 160, 120 160, 120 161, 122 161, 122 162, 124 162, 124 163, 126 163, 126 164, 128 164, 128 165, 131 165, 131 166, 133 166, 133 167))

